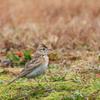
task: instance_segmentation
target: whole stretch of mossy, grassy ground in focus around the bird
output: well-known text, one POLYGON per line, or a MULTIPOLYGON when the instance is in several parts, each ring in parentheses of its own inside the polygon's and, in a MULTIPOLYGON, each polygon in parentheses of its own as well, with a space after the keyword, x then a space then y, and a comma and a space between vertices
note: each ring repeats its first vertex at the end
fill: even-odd
MULTIPOLYGON (((23 68, 16 66, 13 68, 2 67, 2 69, 0 69, 0 98, 2 98, 2 100, 99 100, 100 64, 98 53, 99 51, 86 53, 85 50, 83 50, 81 51, 81 55, 84 54, 84 56, 81 56, 80 52, 77 51, 74 51, 72 54, 71 52, 65 52, 62 55, 64 59, 62 57, 62 59, 59 60, 54 60, 55 56, 53 56, 53 54, 52 57, 49 55, 51 63, 46 73, 36 78, 42 86, 39 86, 34 79, 31 79, 34 89, 26 78, 21 78, 17 80, 17 82, 7 86, 7 83, 13 80, 23 68), (67 58, 65 59, 66 55, 67 58), (57 63, 53 63, 52 59, 53 62, 57 63), (88 62, 92 62, 88 63, 87 59, 88 62)), ((29 51, 27 56, 25 53, 24 55, 22 58, 19 58, 17 55, 16 57, 21 59, 21 61, 26 61, 25 58, 27 58, 27 56, 31 57, 29 51)), ((10 51, 9 57, 11 58, 11 66, 12 63, 16 63, 16 59, 15 56, 14 60, 12 59, 13 54, 10 53, 10 51)), ((59 51, 56 54, 56 58, 59 58, 59 51)), ((22 65, 19 62, 20 60, 17 60, 17 66, 22 65)))

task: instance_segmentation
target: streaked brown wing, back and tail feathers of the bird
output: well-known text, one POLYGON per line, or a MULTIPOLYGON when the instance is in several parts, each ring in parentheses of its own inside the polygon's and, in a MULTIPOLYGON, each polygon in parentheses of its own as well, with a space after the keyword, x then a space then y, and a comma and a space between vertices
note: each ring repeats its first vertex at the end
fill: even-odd
MULTIPOLYGON (((41 44, 42 47, 47 48, 44 44, 41 44)), ((34 69, 40 67, 40 65, 44 65, 47 61, 43 57, 42 53, 36 53, 34 58, 25 66, 25 68, 21 71, 17 78, 12 80, 9 84, 16 81, 19 78, 25 77, 27 74, 31 73, 34 69)))

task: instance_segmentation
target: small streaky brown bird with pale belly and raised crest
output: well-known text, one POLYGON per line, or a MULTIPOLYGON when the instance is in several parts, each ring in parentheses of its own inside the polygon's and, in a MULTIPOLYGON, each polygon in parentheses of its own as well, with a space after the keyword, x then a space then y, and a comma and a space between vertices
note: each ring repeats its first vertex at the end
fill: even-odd
POLYGON ((36 77, 44 73, 49 63, 49 50, 51 49, 49 49, 45 44, 42 43, 37 48, 34 58, 31 61, 29 61, 29 63, 24 67, 20 74, 14 80, 9 82, 8 85, 18 80, 19 78, 26 77, 28 79, 35 79, 36 77))

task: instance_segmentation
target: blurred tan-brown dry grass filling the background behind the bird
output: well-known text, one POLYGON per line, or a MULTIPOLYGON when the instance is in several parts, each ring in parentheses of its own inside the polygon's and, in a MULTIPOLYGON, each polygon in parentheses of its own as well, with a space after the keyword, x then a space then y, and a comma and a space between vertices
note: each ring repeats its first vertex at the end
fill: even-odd
POLYGON ((100 50, 99 0, 0 0, 0 47, 100 50))

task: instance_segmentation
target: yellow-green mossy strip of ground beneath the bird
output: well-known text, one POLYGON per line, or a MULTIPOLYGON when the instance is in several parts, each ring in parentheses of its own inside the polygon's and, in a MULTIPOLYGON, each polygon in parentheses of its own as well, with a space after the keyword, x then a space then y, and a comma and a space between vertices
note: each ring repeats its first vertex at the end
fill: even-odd
MULTIPOLYGON (((13 68, 17 71, 17 68, 13 68)), ((87 76, 82 78, 82 73, 64 71, 59 73, 58 69, 48 68, 45 75, 37 78, 42 86, 31 79, 31 87, 26 78, 7 85, 16 76, 9 73, 1 73, 0 76, 0 99, 1 100, 99 100, 100 78, 96 78, 93 72, 88 71, 87 76), (55 72, 55 70, 56 72, 55 72), (51 74, 55 72, 55 74, 51 74), (64 77, 62 77, 66 74, 64 77)))

